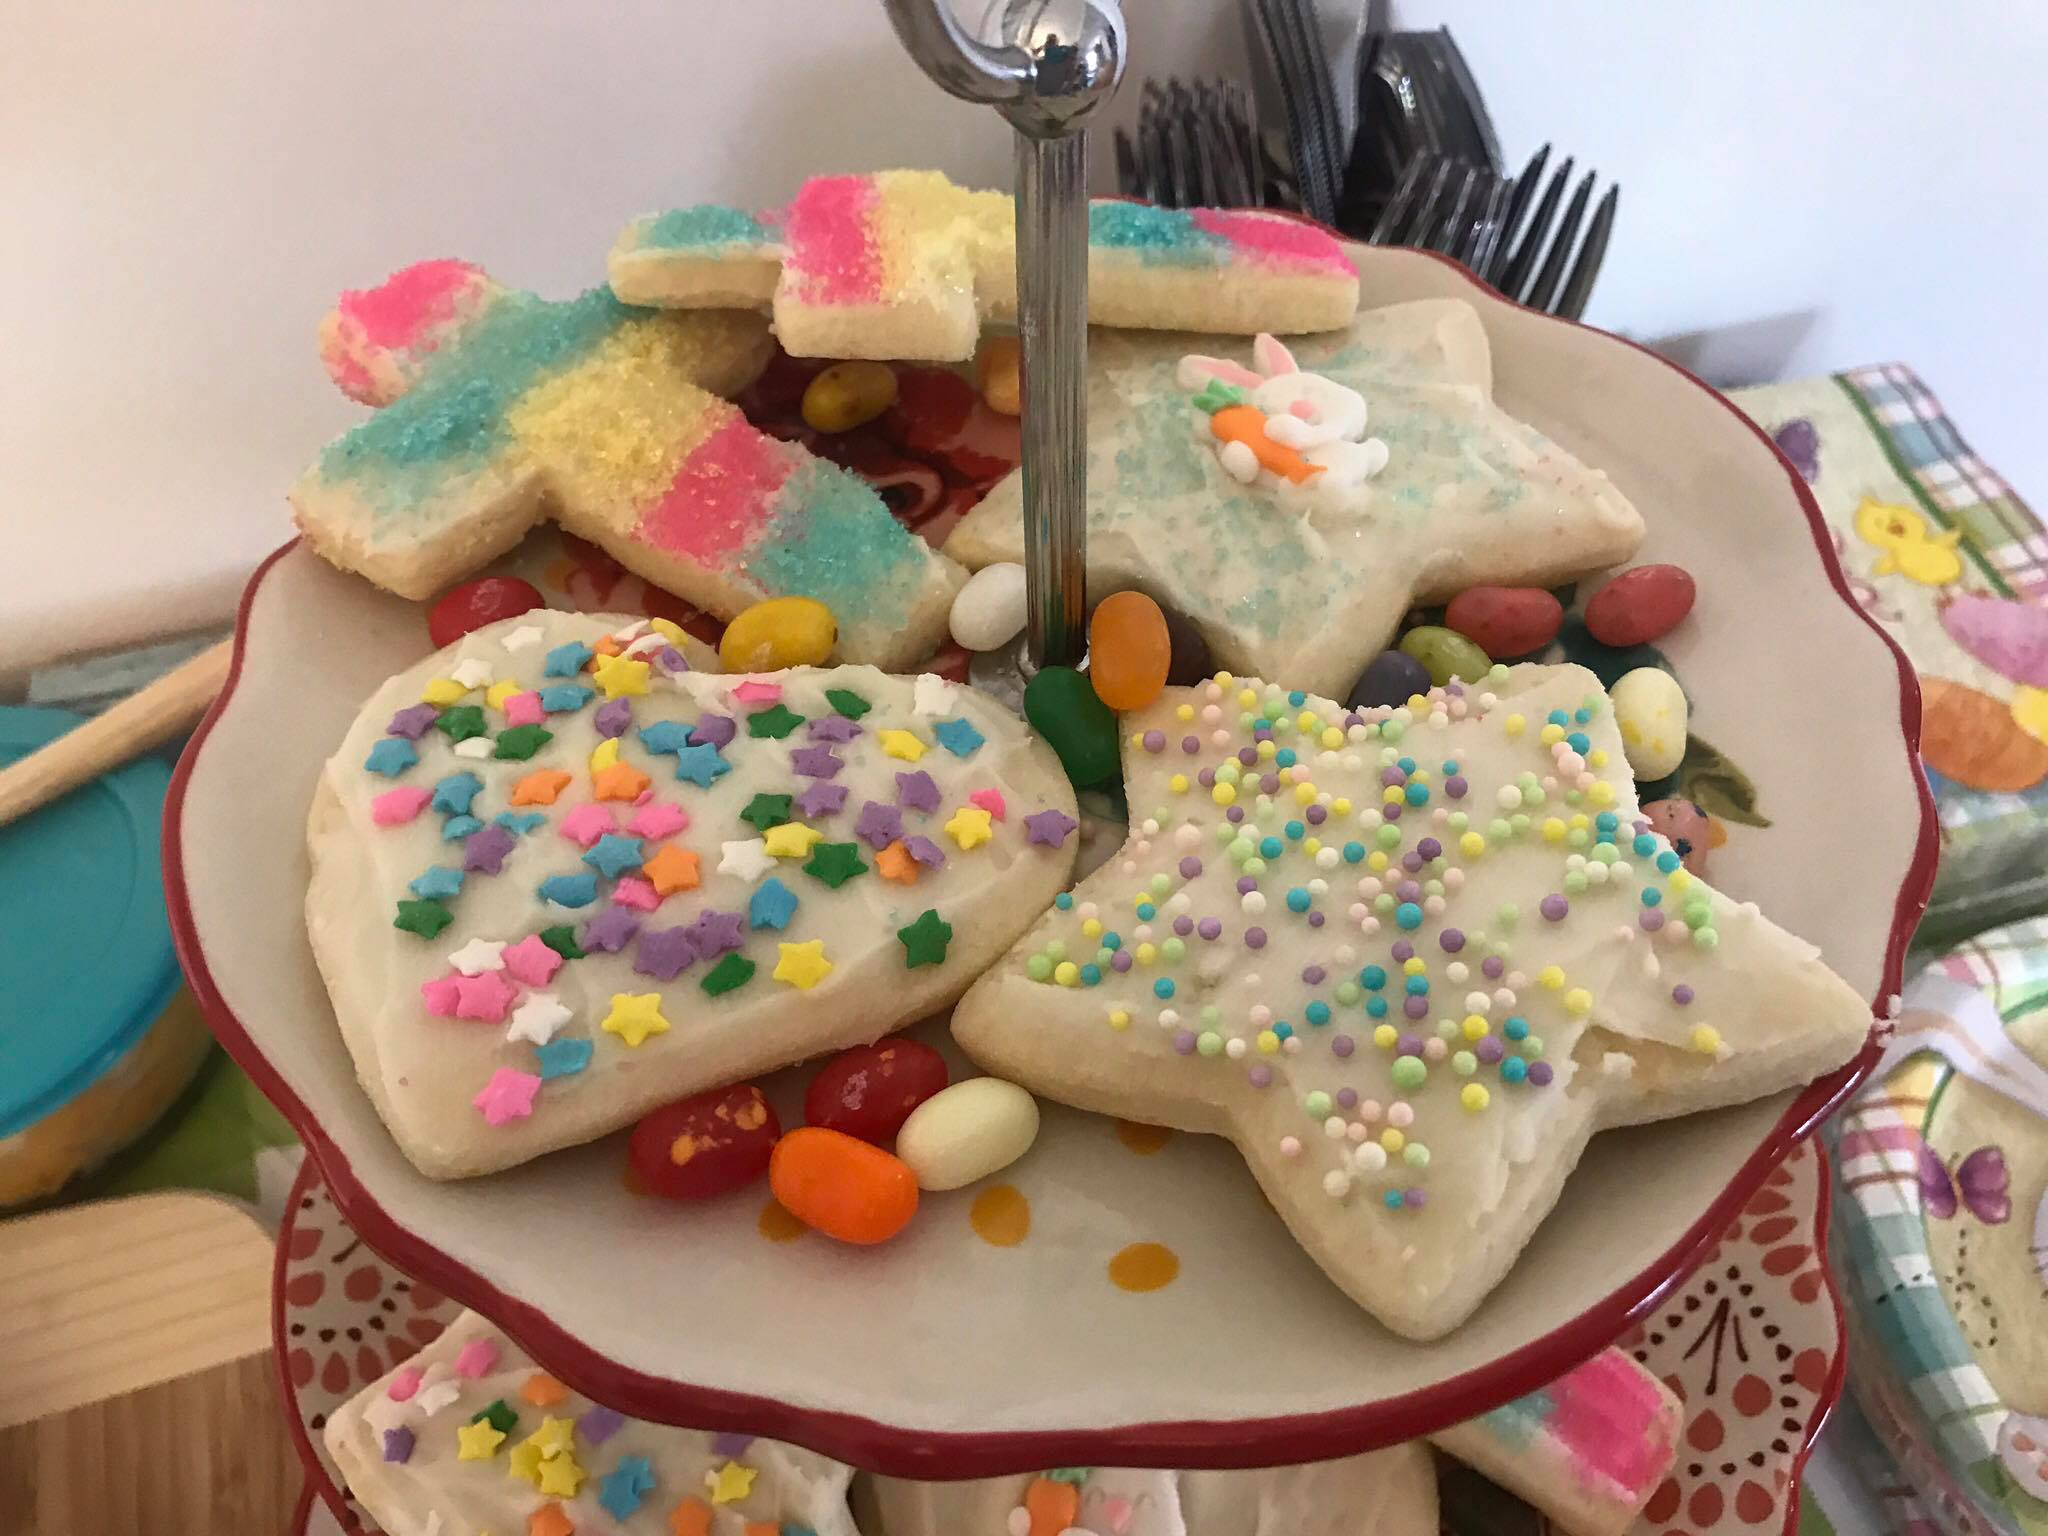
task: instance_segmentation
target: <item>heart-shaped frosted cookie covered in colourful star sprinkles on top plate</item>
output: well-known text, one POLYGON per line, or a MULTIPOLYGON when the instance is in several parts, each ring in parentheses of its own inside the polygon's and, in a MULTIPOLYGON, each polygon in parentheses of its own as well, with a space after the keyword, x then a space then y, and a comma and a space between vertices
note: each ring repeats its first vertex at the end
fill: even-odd
POLYGON ((307 928, 434 1178, 942 1012, 1065 883, 1073 791, 934 676, 692 670, 674 625, 530 612, 365 705, 307 928))

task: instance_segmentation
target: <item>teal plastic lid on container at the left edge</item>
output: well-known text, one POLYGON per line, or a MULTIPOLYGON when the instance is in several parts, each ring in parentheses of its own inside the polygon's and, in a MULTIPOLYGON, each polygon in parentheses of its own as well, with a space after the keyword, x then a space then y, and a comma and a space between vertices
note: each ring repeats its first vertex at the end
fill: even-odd
MULTIPOLYGON (((74 725, 0 709, 0 764, 74 725)), ((170 768, 115 768, 0 827, 0 1137, 92 1087, 178 991, 158 840, 170 768)))

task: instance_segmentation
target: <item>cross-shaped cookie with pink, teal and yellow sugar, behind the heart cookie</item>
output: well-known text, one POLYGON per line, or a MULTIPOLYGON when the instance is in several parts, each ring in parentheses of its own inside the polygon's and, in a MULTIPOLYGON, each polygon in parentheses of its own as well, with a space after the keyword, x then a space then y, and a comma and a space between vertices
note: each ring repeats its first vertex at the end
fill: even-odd
POLYGON ((662 311, 608 289, 547 301, 465 262, 342 295, 336 383, 381 410, 291 492, 342 569, 426 598, 541 518, 721 618, 817 598, 840 655, 905 668, 944 639, 965 582, 860 477, 758 432, 725 395, 772 346, 758 315, 662 311))

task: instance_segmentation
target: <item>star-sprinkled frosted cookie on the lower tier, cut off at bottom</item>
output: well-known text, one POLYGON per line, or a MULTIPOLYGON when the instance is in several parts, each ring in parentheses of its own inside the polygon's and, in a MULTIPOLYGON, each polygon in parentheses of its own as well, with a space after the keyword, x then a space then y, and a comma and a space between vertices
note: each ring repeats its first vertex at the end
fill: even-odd
POLYGON ((860 1536, 844 1462, 629 1419, 475 1313, 342 1403, 322 1438, 391 1536, 860 1536))

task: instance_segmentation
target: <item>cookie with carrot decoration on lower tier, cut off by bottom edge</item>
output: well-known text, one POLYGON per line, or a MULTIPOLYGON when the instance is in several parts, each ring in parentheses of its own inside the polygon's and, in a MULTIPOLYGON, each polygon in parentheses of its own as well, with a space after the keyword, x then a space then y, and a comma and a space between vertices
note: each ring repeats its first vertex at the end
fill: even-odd
POLYGON ((1436 1536, 1419 1440, 1243 1473, 1063 1466, 965 1483, 872 1479, 881 1536, 1436 1536))

